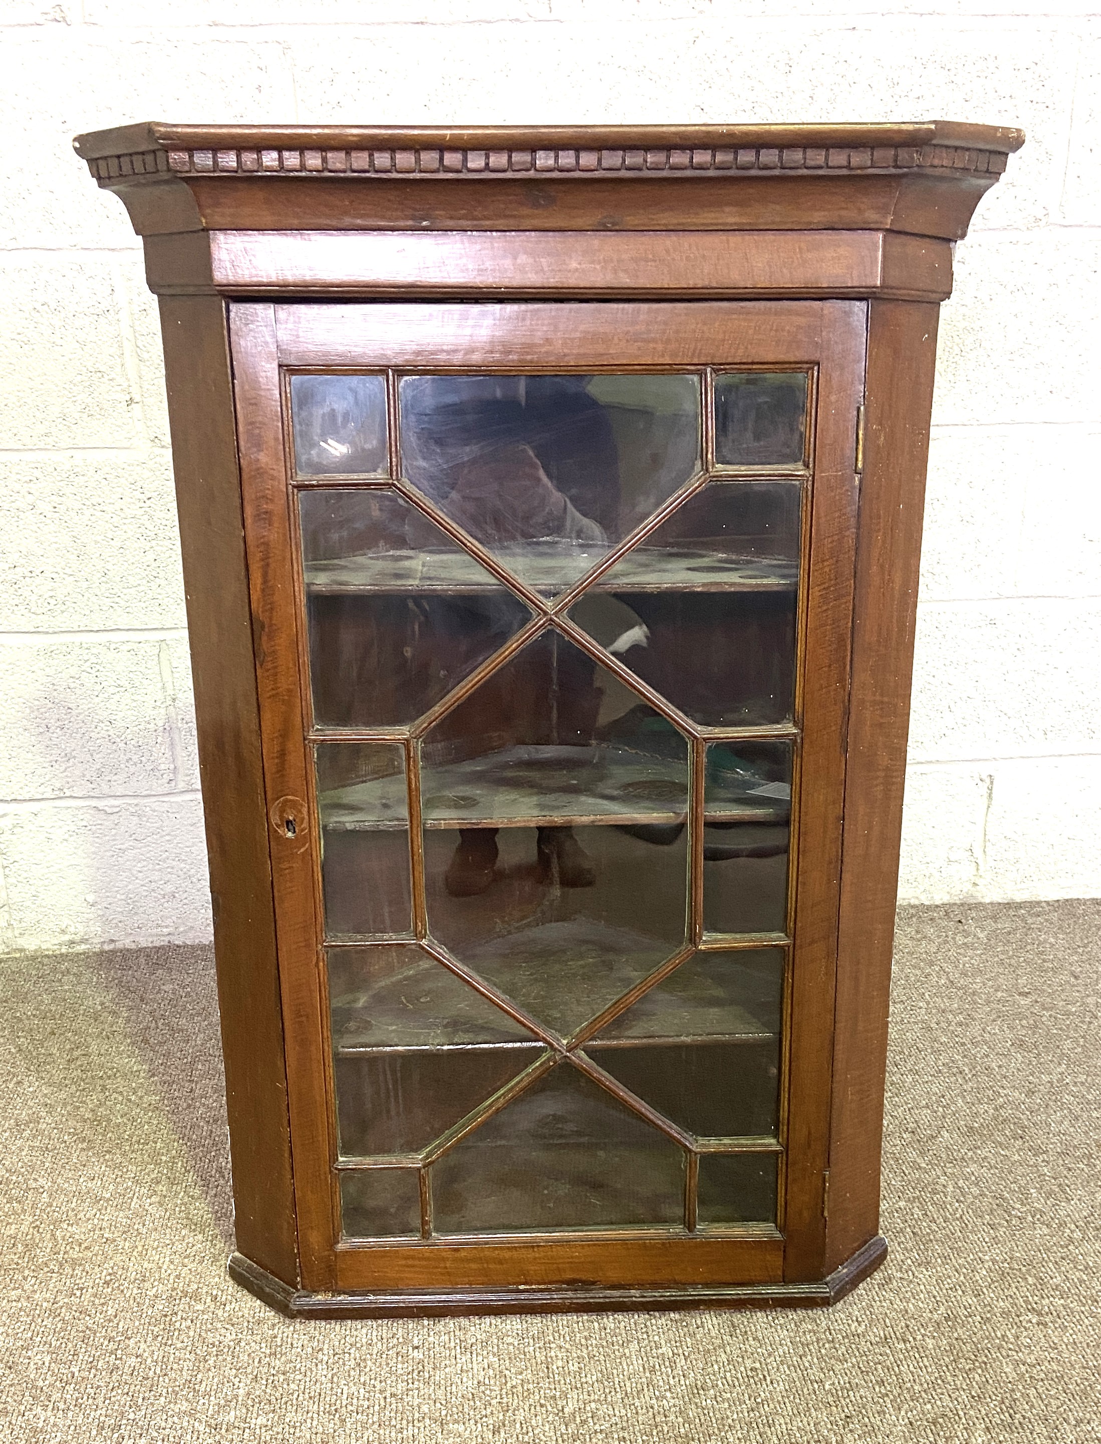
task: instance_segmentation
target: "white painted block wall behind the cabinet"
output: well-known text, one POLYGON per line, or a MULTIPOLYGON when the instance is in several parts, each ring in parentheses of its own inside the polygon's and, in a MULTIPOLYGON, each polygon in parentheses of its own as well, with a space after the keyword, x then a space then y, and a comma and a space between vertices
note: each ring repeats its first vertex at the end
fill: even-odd
POLYGON ((905 901, 1101 892, 1100 0, 0 0, 0 950, 209 936, 160 338, 71 150, 134 120, 973 120, 905 901))

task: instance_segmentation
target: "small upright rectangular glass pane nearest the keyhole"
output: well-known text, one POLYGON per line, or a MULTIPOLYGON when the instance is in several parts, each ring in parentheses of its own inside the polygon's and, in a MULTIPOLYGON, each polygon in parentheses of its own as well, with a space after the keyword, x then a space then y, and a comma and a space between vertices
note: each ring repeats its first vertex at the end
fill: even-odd
POLYGON ((323 742, 315 748, 315 760, 326 936, 410 933, 403 748, 394 742, 323 742))

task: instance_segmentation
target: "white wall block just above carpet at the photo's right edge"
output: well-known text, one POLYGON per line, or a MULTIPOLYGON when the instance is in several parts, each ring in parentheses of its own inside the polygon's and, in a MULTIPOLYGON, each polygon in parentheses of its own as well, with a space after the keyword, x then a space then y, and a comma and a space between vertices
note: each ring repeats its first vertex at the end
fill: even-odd
POLYGON ((1101 757, 996 762, 978 895, 1097 897, 1101 879, 1101 757))

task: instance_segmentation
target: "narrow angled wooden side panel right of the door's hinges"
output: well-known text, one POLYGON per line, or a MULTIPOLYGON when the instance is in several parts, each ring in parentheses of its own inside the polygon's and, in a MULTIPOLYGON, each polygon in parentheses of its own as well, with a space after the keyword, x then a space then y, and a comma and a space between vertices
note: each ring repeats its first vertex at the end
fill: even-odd
POLYGON ((827 1269, 879 1229, 935 305, 872 302, 837 952, 827 1269))

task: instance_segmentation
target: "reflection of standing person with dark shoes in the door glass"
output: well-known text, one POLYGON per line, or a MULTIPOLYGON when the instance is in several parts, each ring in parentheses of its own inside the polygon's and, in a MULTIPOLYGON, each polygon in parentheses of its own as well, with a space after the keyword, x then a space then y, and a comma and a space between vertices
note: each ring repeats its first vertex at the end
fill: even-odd
MULTIPOLYGON (((405 461, 411 479, 465 531, 496 550, 532 542, 602 544, 615 530, 619 461, 605 409, 584 377, 426 377, 407 413, 405 461), (434 394, 433 394, 434 391, 434 394), (440 404, 431 404, 434 401, 440 404)), ((563 578, 563 585, 573 580, 563 578)), ((511 664, 511 686, 547 696, 548 660, 556 715, 531 729, 519 702, 492 718, 495 734, 517 744, 590 745, 600 693, 595 664, 557 641, 535 644, 511 664), (576 654, 574 654, 576 653, 576 654)), ((486 703, 508 693, 483 687, 486 703)), ((496 827, 463 827, 444 875, 452 897, 485 892, 498 861, 496 827)), ((567 825, 537 829, 540 877, 560 887, 592 887, 596 869, 567 825)))

